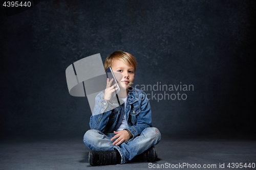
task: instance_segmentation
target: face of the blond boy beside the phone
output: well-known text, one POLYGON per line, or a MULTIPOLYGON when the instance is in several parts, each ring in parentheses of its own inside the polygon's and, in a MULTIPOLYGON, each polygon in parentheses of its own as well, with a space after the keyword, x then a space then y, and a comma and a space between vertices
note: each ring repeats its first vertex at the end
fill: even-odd
POLYGON ((118 85, 120 88, 128 89, 133 85, 135 71, 132 66, 126 65, 126 63, 117 59, 117 60, 114 60, 111 68, 113 72, 118 72, 123 76, 121 81, 118 82, 118 85))

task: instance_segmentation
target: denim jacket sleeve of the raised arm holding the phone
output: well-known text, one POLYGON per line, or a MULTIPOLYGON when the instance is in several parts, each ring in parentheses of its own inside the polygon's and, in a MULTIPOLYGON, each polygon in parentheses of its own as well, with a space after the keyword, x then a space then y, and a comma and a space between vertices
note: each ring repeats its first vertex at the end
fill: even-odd
POLYGON ((95 98, 93 114, 90 117, 90 128, 103 131, 108 123, 113 105, 104 100, 104 93, 100 92, 95 98))

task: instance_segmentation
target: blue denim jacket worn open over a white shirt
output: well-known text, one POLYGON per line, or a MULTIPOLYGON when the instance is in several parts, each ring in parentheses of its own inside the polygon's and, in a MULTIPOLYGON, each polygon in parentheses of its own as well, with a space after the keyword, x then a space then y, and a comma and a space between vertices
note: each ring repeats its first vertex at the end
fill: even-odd
MULTIPOLYGON (((122 122, 124 104, 111 103, 104 100, 103 97, 104 92, 100 92, 95 98, 95 106, 90 118, 90 128, 100 130, 103 133, 113 133, 122 122), (111 108, 114 109, 111 110, 111 108)), ((127 130, 133 135, 130 140, 140 135, 145 128, 152 127, 150 102, 144 91, 134 87, 129 88, 125 111, 129 126, 127 130)))

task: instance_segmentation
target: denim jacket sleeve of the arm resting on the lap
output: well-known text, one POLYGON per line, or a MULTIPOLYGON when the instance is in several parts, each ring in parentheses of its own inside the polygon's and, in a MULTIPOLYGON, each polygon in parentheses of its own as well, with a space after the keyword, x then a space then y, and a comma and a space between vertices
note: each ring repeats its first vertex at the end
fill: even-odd
POLYGON ((145 128, 152 127, 152 116, 151 116, 152 113, 151 113, 150 101, 148 101, 145 93, 143 93, 142 95, 143 96, 142 96, 142 101, 140 106, 140 112, 137 115, 136 125, 130 128, 126 128, 133 135, 133 137, 130 140, 133 140, 135 137, 140 135, 145 128))

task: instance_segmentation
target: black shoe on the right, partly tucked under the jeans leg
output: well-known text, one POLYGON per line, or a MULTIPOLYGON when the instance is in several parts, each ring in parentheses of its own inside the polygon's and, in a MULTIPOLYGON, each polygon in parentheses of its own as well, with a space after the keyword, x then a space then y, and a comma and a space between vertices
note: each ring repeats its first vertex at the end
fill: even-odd
POLYGON ((140 162, 155 162, 157 160, 157 149, 155 147, 151 147, 147 149, 140 155, 137 155, 133 158, 133 161, 140 162))

